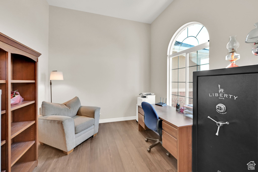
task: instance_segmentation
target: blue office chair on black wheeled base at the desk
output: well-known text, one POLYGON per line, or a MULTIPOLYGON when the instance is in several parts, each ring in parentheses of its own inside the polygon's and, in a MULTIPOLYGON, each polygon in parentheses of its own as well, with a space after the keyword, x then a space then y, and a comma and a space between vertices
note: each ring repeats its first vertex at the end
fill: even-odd
POLYGON ((155 132, 158 133, 159 139, 153 139, 147 137, 145 139, 146 142, 148 140, 156 141, 154 144, 150 145, 147 149, 148 152, 151 151, 151 148, 162 145, 162 120, 159 119, 156 110, 153 108, 153 106, 150 103, 142 102, 142 109, 144 111, 144 123, 145 125, 155 132))

